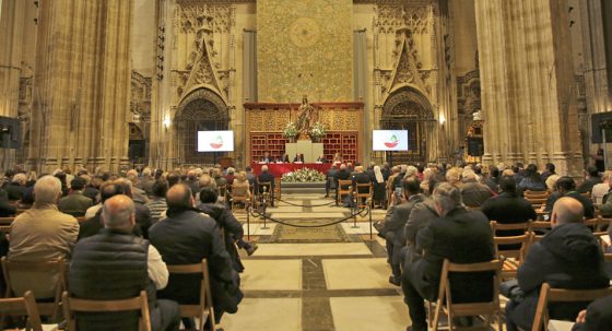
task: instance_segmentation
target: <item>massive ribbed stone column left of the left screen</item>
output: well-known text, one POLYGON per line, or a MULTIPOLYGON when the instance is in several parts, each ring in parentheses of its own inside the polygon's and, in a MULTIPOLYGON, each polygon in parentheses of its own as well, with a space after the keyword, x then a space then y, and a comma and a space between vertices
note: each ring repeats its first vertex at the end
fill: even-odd
POLYGON ((28 162, 117 170, 128 164, 132 1, 39 5, 28 162))

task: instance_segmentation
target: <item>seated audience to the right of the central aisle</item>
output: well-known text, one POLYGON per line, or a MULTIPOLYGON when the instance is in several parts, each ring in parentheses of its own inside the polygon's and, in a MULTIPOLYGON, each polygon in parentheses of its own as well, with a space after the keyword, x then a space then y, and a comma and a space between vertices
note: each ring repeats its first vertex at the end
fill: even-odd
MULTIPOLYGON (((610 173, 602 177, 595 167, 588 167, 581 180, 560 176, 550 163, 542 174, 536 165, 523 167, 520 163, 490 167, 391 167, 386 182, 391 203, 385 221, 376 227, 379 236, 386 238, 389 282, 401 286, 404 293, 412 321, 408 330, 427 330, 424 300, 437 299, 443 260, 472 263, 505 259, 496 255, 497 249, 505 248, 501 245, 495 249, 495 237, 531 234, 525 259, 513 260, 518 263, 515 277, 504 279, 508 282, 506 287, 513 288, 503 311, 508 330, 531 329, 543 283, 574 289, 610 286, 612 265, 604 262, 603 252, 612 252, 612 248, 600 235, 605 229, 612 233, 612 227, 608 218, 602 218, 597 228, 584 224, 598 214, 612 215, 612 199, 608 194, 610 173), (596 189, 599 201, 593 203, 591 194, 595 200, 596 189), (548 229, 538 234, 529 227, 493 230, 495 224, 533 221, 548 224, 548 229), (597 236, 595 230, 599 230, 597 236)), ((491 297, 491 286, 486 285, 492 284, 491 276, 483 279, 482 274, 472 273, 451 277, 450 282, 455 304, 491 297)), ((590 306, 588 302, 552 305, 550 316, 577 319, 576 330, 600 330, 593 326, 609 329, 612 310, 605 310, 603 305, 610 299, 590 306)), ((472 326, 476 320, 457 318, 455 322, 472 326)))

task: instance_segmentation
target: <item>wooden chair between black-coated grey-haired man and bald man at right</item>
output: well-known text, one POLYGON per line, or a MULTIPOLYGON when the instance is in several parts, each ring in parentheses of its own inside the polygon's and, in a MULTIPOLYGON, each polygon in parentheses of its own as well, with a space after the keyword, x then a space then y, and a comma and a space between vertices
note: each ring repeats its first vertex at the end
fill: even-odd
POLYGON ((502 279, 516 279, 518 268, 525 261, 527 250, 531 244, 531 234, 525 233, 521 236, 493 237, 495 243, 495 256, 503 261, 502 279), (513 248, 507 248, 508 245, 513 248), (520 245, 518 248, 514 248, 520 245), (510 260, 511 259, 511 260, 510 260))

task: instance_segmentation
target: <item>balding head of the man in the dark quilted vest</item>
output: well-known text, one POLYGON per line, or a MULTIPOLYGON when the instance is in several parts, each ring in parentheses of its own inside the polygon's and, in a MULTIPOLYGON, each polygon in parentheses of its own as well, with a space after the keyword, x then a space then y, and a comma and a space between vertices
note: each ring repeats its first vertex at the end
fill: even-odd
POLYGON ((130 197, 118 194, 108 198, 102 209, 104 227, 131 230, 136 224, 136 206, 130 197))

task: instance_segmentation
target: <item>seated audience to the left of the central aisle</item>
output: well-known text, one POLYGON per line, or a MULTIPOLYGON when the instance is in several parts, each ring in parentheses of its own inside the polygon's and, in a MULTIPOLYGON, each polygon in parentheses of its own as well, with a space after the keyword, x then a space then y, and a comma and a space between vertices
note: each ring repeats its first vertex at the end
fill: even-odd
MULTIPOLYGON (((207 259, 219 322, 225 312, 236 312, 243 298, 239 273, 244 265, 237 249, 249 256, 257 250, 257 245, 245 240, 227 200, 219 198, 219 187, 235 186, 249 194, 250 180, 254 185, 274 182, 267 172, 257 178, 247 170, 237 176, 233 168, 220 166, 169 173, 80 169, 74 176, 58 170, 42 174, 31 184, 19 169, 8 172, 0 208, 3 216, 14 220, 10 234, 2 236, 3 256, 17 262, 70 262, 66 289, 74 297, 118 299, 145 291, 153 330, 178 330, 177 305, 200 300, 201 276, 168 274, 166 265, 207 259), (21 202, 26 194, 34 201, 25 209, 21 202), (126 265, 131 265, 129 273, 122 270, 126 265)), ((58 274, 15 271, 10 279, 5 286, 13 293, 32 291, 38 300, 54 300, 58 274)), ((79 327, 87 330, 102 323, 108 330, 129 330, 131 317, 93 314, 79 327)), ((183 319, 183 324, 195 328, 191 319, 183 319)))

